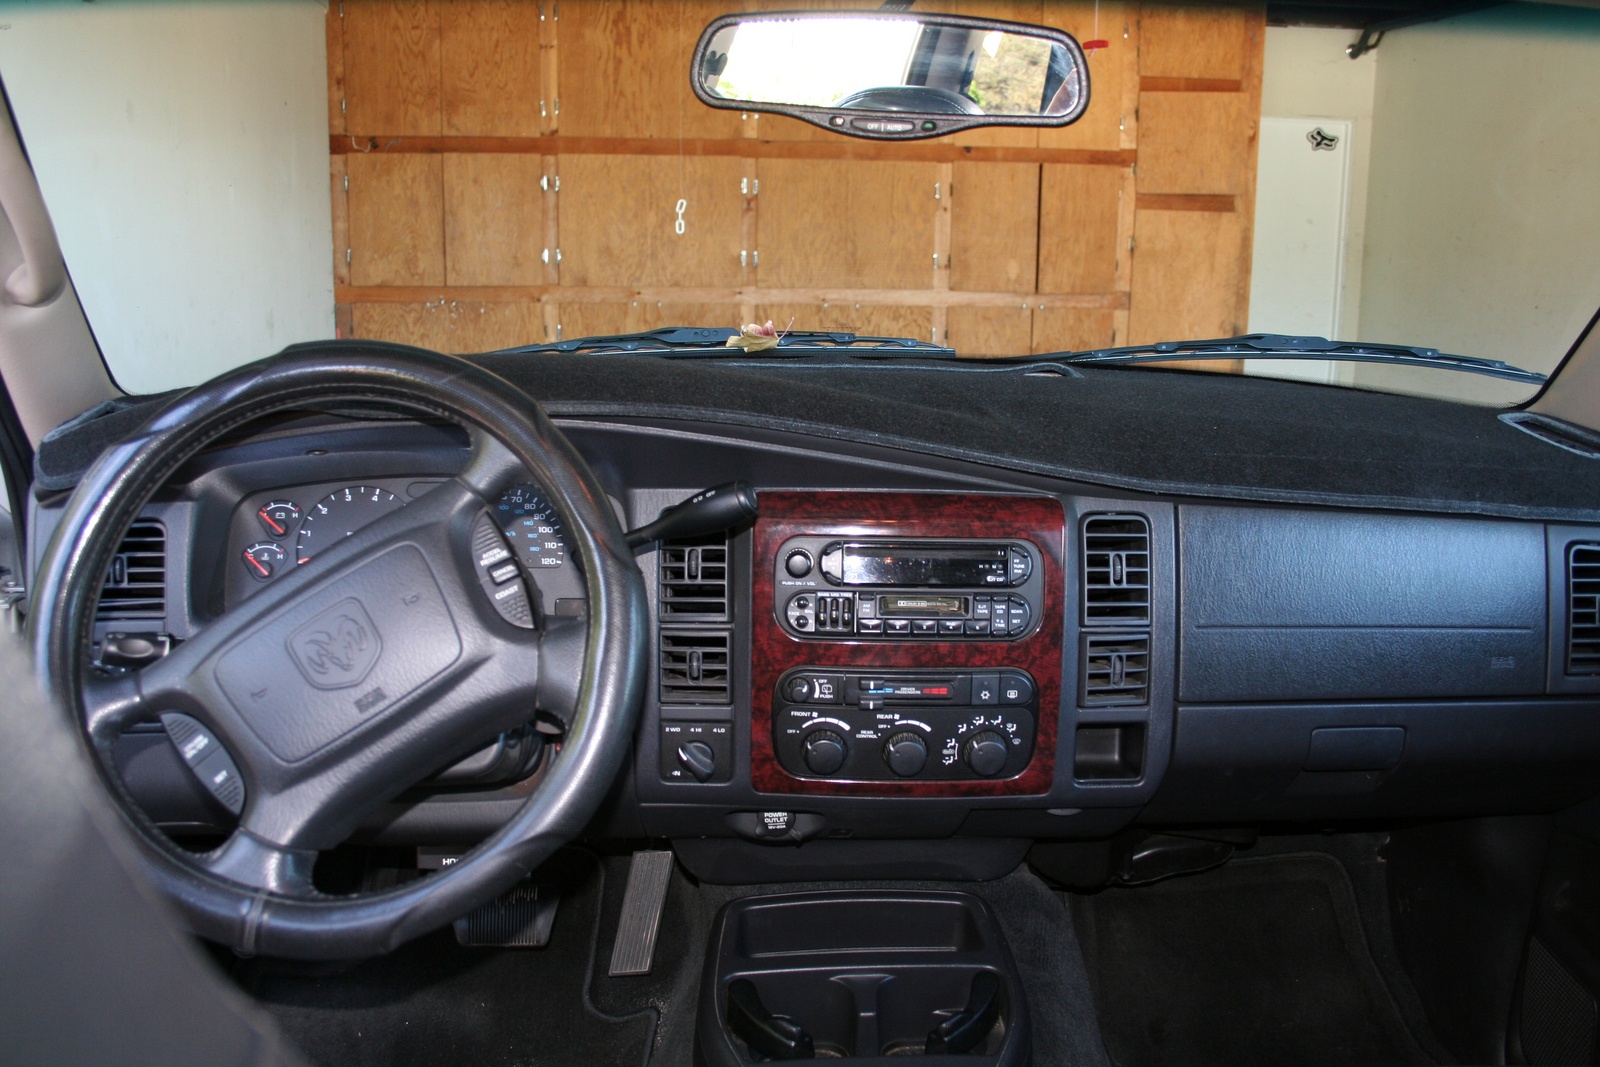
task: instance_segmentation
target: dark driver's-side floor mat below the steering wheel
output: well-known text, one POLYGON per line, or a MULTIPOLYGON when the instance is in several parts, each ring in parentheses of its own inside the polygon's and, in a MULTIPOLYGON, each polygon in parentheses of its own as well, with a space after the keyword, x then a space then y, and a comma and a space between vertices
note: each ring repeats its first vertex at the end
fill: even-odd
POLYGON ((251 960, 235 977, 318 1065, 643 1064, 656 1013, 608 1016, 586 992, 600 864, 563 851, 539 878, 562 889, 544 949, 462 949, 446 928, 354 966, 251 960))

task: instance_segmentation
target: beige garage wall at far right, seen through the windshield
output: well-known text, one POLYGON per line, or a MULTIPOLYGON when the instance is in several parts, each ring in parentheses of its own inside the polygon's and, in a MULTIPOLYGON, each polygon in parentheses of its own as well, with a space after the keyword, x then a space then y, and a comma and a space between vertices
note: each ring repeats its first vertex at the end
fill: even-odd
MULTIPOLYGON (((1552 370, 1600 304, 1600 11, 1506 5, 1376 54, 1360 339, 1552 370)), ((1373 365, 1354 381, 1531 392, 1373 365)))

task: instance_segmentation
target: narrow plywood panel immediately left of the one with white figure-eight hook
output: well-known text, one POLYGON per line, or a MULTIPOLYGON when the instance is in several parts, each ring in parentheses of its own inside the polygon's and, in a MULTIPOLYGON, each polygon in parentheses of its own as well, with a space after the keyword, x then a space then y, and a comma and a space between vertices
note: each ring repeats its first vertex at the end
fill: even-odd
POLYGON ((538 155, 446 155, 445 282, 542 285, 544 171, 538 155))

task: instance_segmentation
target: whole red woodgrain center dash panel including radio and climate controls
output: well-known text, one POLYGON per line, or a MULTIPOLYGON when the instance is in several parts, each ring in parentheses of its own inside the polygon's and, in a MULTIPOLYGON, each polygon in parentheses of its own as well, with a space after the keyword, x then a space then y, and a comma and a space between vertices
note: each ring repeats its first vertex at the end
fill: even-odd
POLYGON ((762 493, 750 774, 758 792, 1050 790, 1061 502, 762 493))

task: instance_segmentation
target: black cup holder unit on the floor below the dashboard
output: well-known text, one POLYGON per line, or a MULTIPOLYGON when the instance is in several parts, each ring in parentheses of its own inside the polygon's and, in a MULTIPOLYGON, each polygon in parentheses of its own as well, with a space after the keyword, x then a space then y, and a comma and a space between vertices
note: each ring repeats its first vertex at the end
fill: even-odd
POLYGON ((1022 1064, 1027 1008, 989 907, 965 893, 746 897, 717 917, 698 1062, 1022 1064))

